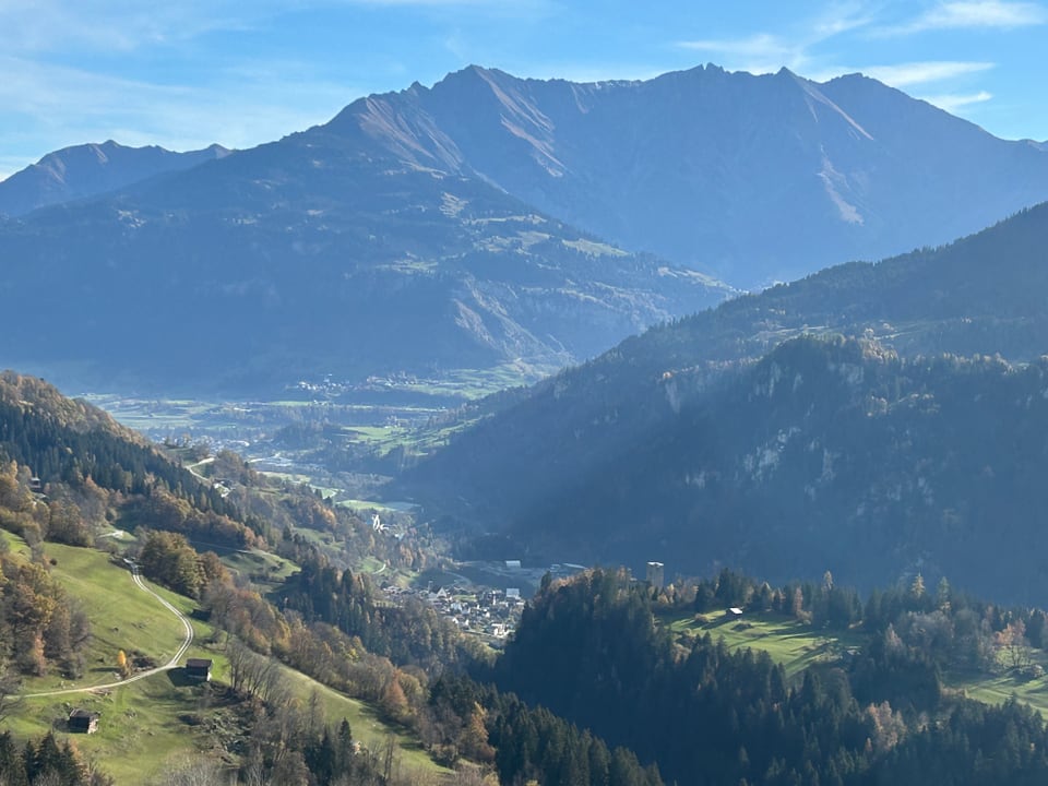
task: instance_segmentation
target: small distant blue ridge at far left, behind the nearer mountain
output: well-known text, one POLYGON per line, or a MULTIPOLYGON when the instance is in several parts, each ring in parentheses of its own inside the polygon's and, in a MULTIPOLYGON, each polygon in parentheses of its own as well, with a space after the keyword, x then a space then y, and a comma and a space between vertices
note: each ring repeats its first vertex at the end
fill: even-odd
POLYGON ((20 216, 37 207, 95 196, 228 154, 217 144, 174 153, 155 145, 126 147, 112 140, 64 147, 0 181, 0 214, 20 216))

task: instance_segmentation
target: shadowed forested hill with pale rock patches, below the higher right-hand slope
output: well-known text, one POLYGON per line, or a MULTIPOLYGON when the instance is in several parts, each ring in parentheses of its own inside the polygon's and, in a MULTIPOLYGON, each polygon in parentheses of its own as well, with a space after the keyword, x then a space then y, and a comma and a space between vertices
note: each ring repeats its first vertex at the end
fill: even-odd
POLYGON ((679 408, 671 384, 616 450, 576 464, 550 449, 547 469, 510 443, 510 455, 477 457, 472 488, 454 488, 468 497, 487 481, 481 493, 509 497, 502 551, 538 563, 656 559, 775 581, 829 569, 867 587, 920 571, 1000 599, 1048 597, 1048 558, 1024 546, 1046 502, 1044 362, 903 361, 802 338, 679 408), (478 471, 496 462, 511 481, 478 471), (547 473, 560 474, 552 489, 547 473))

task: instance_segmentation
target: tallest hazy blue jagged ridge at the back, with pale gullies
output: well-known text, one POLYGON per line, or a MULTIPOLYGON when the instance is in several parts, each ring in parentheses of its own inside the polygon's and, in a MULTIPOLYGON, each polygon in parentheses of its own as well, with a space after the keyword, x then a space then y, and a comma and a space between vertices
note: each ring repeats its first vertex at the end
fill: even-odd
POLYGON ((471 67, 331 124, 745 287, 945 242, 1048 199, 1038 146, 860 75, 708 66, 576 84, 471 67))

